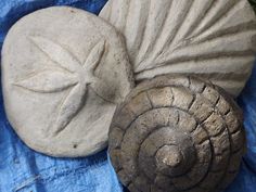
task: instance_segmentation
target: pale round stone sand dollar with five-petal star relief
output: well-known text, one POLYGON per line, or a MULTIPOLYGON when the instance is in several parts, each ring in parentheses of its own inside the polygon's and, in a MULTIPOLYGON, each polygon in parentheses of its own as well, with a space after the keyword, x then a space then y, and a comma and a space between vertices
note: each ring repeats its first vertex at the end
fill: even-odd
POLYGON ((20 20, 5 38, 1 65, 8 119, 28 146, 52 156, 102 150, 116 103, 132 88, 121 36, 68 7, 20 20))

